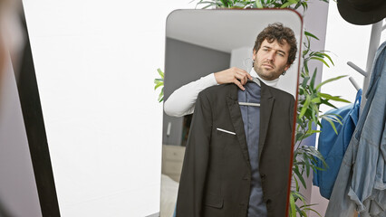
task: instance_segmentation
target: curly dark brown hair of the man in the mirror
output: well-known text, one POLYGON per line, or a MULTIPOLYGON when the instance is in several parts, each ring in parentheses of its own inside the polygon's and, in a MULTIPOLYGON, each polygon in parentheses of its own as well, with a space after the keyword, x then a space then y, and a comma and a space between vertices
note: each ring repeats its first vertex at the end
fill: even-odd
POLYGON ((296 57, 297 47, 296 38, 294 37, 294 31, 288 27, 285 27, 281 23, 269 24, 265 29, 257 35, 254 50, 256 52, 260 49, 261 43, 264 40, 268 42, 274 42, 275 40, 281 45, 287 42, 290 45, 290 51, 288 54, 287 64, 292 64, 296 57))

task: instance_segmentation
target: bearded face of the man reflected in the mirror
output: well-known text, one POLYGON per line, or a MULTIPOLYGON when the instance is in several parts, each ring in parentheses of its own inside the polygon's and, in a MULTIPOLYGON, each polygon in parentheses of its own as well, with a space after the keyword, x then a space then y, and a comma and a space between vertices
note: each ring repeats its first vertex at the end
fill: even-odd
POLYGON ((275 80, 288 70, 287 64, 290 45, 285 42, 281 45, 276 40, 268 42, 266 39, 261 43, 260 49, 254 50, 254 69, 260 78, 264 80, 275 80))

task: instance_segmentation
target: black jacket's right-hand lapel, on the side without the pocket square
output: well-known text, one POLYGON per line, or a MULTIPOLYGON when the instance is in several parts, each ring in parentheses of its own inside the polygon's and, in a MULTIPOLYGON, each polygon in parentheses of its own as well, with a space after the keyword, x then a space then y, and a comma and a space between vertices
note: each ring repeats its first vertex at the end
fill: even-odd
POLYGON ((261 159, 261 153, 265 145, 265 137, 269 127, 272 108, 275 98, 264 82, 261 82, 261 99, 260 99, 260 136, 258 144, 258 159, 261 159))

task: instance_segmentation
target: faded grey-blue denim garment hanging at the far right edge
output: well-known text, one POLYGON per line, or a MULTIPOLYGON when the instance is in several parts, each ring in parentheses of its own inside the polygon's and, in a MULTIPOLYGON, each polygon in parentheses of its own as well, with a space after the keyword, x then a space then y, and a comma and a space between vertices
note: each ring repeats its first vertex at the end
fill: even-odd
POLYGON ((386 216, 386 42, 376 52, 366 98, 325 216, 386 216))

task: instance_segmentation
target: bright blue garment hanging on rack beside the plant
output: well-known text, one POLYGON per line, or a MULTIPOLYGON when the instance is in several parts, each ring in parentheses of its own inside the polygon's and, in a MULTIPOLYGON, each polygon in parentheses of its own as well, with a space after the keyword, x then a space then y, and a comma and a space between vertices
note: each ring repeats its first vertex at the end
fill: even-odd
MULTIPOLYGON (((319 186, 321 195, 327 199, 330 199, 331 193, 333 192, 333 184, 338 175, 339 167, 342 164, 344 153, 346 152, 347 146, 349 146, 352 133, 358 122, 361 99, 362 90, 358 90, 353 104, 339 109, 332 109, 325 113, 336 114, 341 117, 342 125, 335 122, 335 128, 338 134, 335 133, 333 127, 327 120, 322 120, 323 127, 319 135, 318 150, 324 157, 328 168, 323 171, 317 170, 314 173, 313 184, 319 186)), ((321 160, 318 160, 316 165, 323 168, 321 160)))

